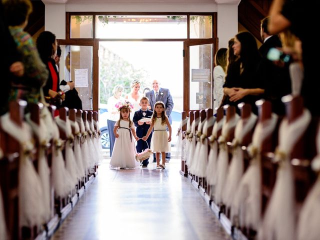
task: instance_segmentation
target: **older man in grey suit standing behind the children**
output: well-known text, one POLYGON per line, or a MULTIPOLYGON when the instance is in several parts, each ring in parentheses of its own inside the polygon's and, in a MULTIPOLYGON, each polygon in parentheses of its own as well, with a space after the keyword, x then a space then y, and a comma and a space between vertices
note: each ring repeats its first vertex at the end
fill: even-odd
MULTIPOLYGON (((153 90, 145 93, 145 96, 149 98, 149 101, 150 101, 150 109, 153 111, 153 106, 156 101, 163 101, 165 105, 165 113, 168 116, 169 122, 171 124, 172 119, 170 114, 173 108, 173 100, 172 100, 172 96, 170 94, 169 89, 160 87, 160 83, 158 80, 152 81, 152 88, 153 90)), ((171 158, 171 153, 166 152, 165 161, 169 162, 170 158, 171 158)), ((154 153, 153 153, 153 162, 155 162, 154 153)))

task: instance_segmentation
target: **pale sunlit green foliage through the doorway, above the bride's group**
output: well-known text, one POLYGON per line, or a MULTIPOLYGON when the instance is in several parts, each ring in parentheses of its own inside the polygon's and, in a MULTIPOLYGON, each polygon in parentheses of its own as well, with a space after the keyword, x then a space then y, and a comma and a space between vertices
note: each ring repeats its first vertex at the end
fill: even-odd
POLYGON ((117 84, 124 87, 122 96, 130 92, 130 84, 134 79, 141 81, 141 92, 144 87, 151 88, 151 79, 145 69, 136 69, 112 51, 103 46, 100 47, 103 52, 99 57, 100 103, 107 103, 108 98, 112 95, 113 87, 117 84))

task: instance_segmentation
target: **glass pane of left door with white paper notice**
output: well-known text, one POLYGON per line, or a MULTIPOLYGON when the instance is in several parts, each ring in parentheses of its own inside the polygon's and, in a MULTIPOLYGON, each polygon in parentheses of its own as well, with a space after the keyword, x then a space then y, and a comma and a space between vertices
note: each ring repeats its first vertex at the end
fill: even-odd
POLYGON ((73 81, 82 101, 82 109, 92 110, 92 46, 60 47, 60 81, 73 81))

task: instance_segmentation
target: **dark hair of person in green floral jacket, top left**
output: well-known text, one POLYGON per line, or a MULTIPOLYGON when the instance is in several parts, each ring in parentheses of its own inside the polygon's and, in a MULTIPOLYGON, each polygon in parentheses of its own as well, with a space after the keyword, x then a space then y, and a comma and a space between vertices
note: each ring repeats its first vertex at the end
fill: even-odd
POLYGON ((9 26, 21 25, 32 12, 30 0, 3 0, 4 15, 9 26))

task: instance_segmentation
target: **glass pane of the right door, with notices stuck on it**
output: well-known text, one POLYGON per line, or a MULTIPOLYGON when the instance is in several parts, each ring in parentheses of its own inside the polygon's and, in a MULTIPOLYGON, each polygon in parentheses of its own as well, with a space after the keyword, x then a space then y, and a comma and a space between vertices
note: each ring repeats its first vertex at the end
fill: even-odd
POLYGON ((213 44, 190 46, 190 109, 212 108, 213 44))

